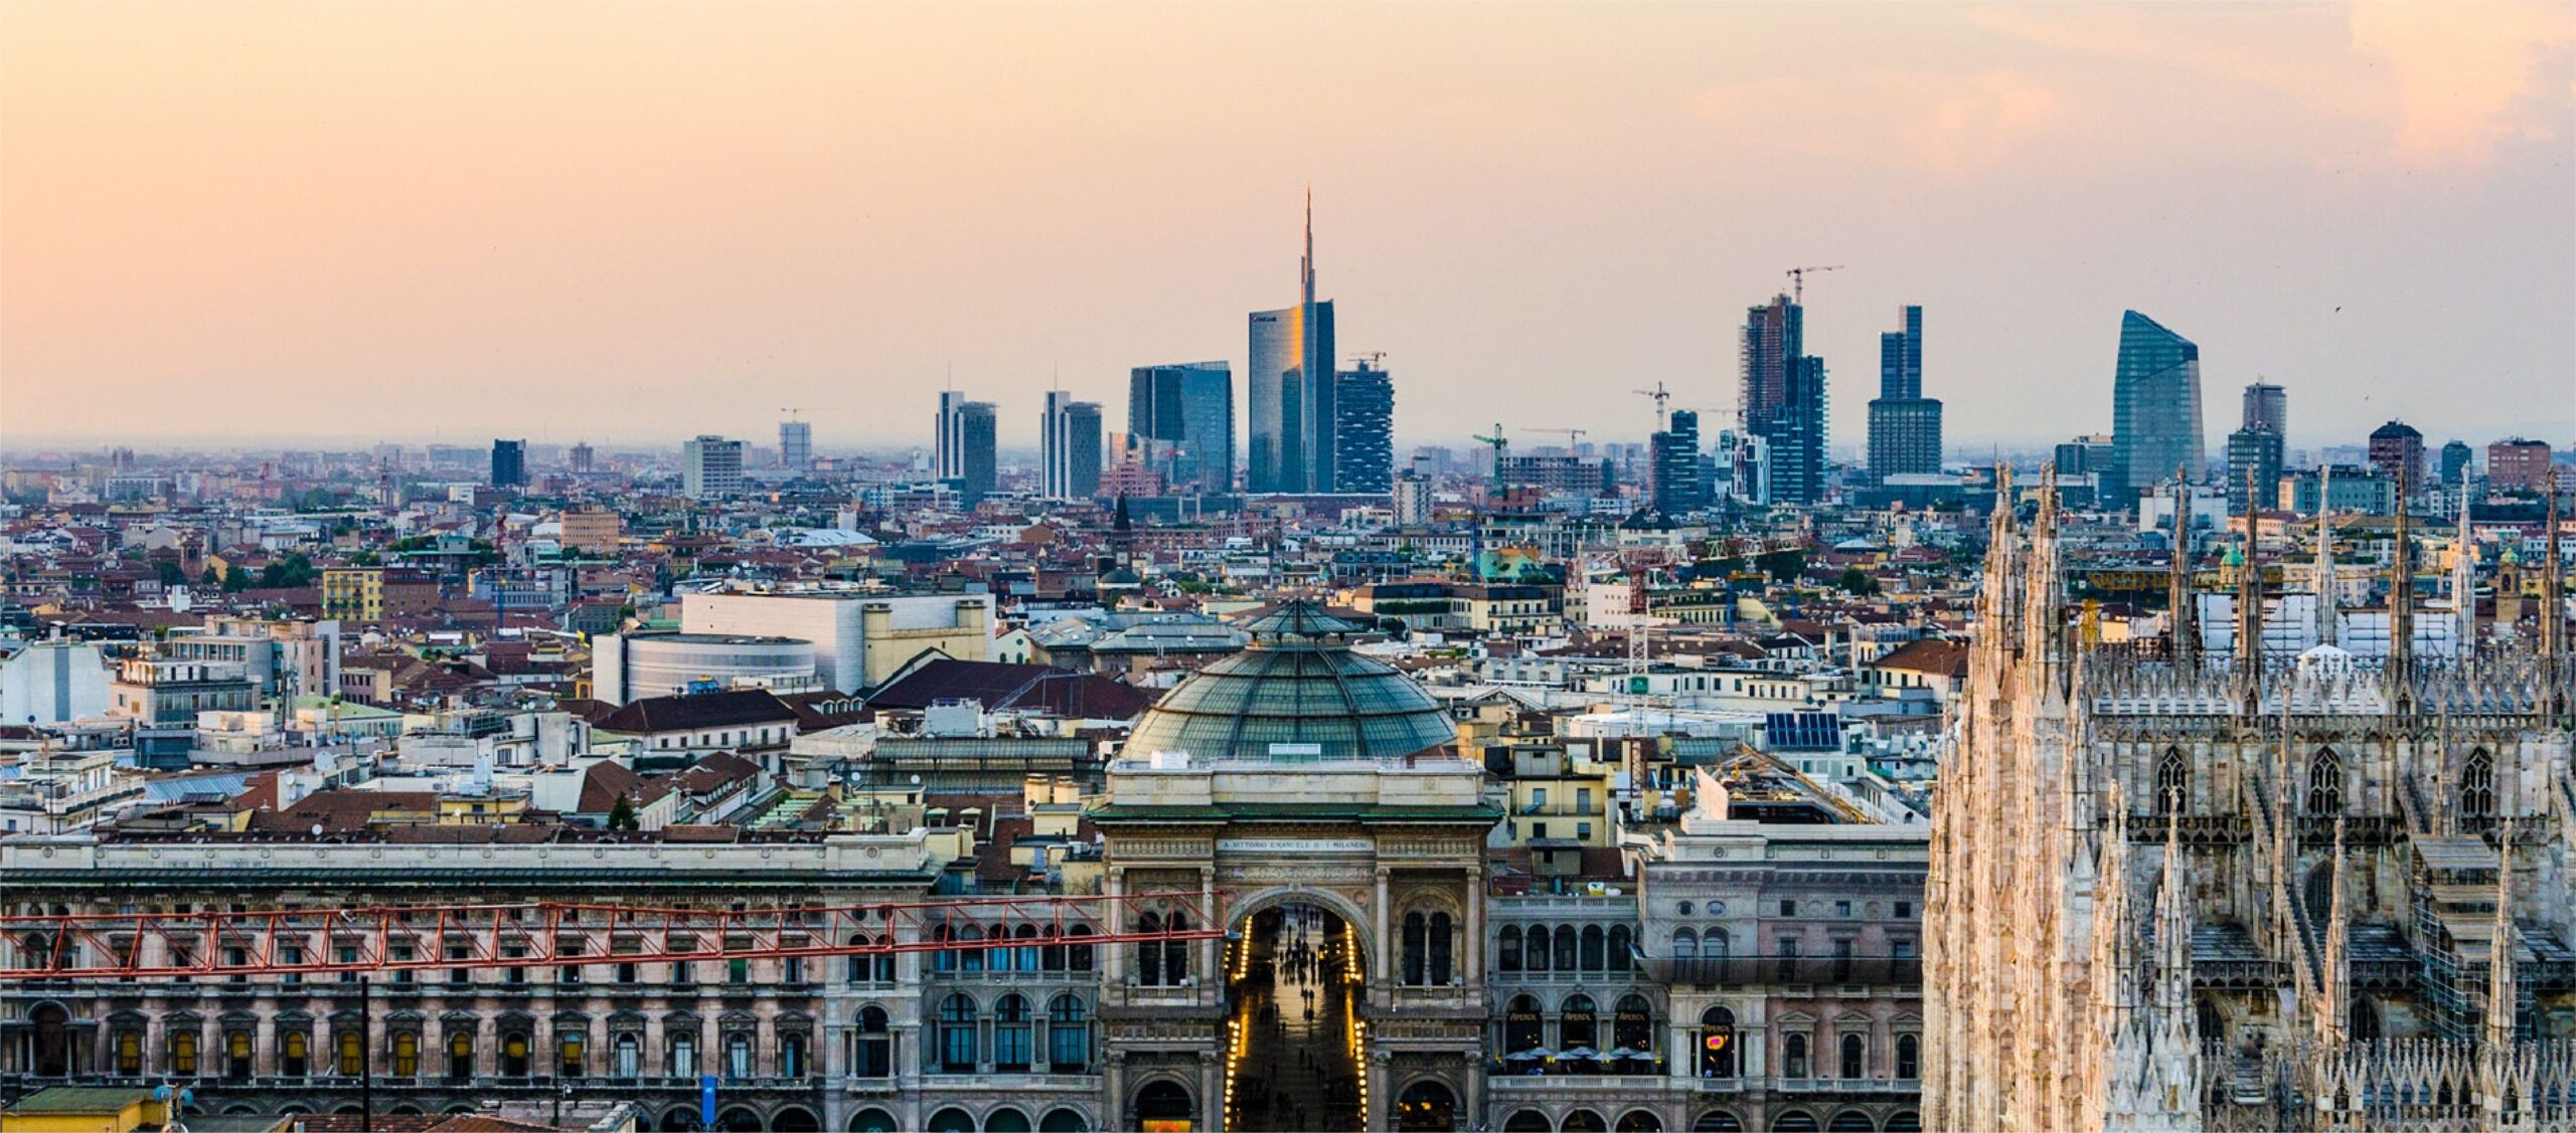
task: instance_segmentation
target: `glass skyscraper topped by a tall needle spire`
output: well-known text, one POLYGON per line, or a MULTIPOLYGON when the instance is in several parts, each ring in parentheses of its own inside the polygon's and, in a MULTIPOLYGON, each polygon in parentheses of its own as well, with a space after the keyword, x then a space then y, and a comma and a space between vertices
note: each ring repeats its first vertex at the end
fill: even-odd
POLYGON ((1314 299, 1314 193, 1306 196, 1306 258, 1298 306, 1252 312, 1249 492, 1332 492, 1334 412, 1332 304, 1314 299))

